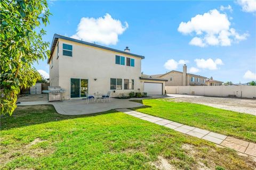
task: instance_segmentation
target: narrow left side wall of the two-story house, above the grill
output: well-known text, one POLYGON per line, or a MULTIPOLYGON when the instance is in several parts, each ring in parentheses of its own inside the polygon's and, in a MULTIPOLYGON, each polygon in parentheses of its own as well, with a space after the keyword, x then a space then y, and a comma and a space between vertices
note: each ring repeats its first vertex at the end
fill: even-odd
MULTIPOLYGON (((60 46, 60 45, 59 45, 60 46)), ((60 53, 60 51, 59 51, 60 53)), ((50 78, 50 86, 59 86, 59 59, 57 59, 57 46, 54 49, 52 54, 52 60, 50 61, 50 71, 49 71, 49 78, 50 78), (52 66, 53 62, 53 66, 52 66)))

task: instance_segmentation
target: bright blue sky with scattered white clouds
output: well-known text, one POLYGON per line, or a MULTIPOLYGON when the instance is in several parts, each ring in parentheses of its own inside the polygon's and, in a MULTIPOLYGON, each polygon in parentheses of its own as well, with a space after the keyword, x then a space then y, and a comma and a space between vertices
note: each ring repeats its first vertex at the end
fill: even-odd
MULTIPOLYGON (((256 80, 256 1, 48 1, 54 33, 143 55, 142 72, 256 80)), ((47 60, 34 67, 49 77, 47 60)))

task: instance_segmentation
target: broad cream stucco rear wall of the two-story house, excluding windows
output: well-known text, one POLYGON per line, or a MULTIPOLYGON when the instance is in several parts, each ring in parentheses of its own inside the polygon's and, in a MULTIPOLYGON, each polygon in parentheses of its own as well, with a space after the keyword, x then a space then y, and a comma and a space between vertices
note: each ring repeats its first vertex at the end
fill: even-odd
POLYGON ((62 99, 70 99, 71 78, 88 79, 89 94, 94 92, 107 94, 110 91, 110 78, 122 79, 122 89, 124 89, 124 79, 134 80, 134 90, 111 90, 111 96, 114 97, 142 89, 140 76, 140 57, 59 39, 59 85, 65 89, 62 99), (63 43, 73 45, 73 57, 62 55, 63 43), (134 58, 134 67, 115 64, 115 55, 134 58))

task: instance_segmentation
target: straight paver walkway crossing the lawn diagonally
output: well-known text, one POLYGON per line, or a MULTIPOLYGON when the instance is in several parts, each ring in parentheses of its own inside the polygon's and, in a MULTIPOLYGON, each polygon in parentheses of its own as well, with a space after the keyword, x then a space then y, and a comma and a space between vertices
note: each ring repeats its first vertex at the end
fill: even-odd
POLYGON ((210 132, 207 130, 195 128, 192 126, 187 126, 181 123, 165 120, 164 118, 159 118, 155 116, 151 116, 148 114, 140 113, 137 111, 133 111, 131 109, 116 109, 118 112, 123 112, 125 114, 129 114, 134 117, 138 117, 142 120, 152 122, 158 125, 165 126, 167 128, 173 129, 175 131, 185 133, 191 135, 193 137, 205 139, 207 141, 211 141, 221 146, 225 146, 236 151, 242 152, 243 154, 247 154, 253 157, 256 157, 256 143, 243 141, 240 139, 236 139, 233 137, 228 137, 223 134, 210 132))

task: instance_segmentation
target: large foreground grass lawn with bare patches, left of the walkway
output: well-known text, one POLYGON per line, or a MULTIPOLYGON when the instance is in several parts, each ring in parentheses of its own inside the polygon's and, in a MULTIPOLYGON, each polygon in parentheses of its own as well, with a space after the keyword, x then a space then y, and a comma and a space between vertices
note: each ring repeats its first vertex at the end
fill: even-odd
POLYGON ((251 158, 124 113, 65 116, 19 106, 1 117, 0 169, 253 169, 251 158))

